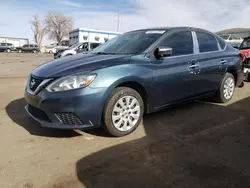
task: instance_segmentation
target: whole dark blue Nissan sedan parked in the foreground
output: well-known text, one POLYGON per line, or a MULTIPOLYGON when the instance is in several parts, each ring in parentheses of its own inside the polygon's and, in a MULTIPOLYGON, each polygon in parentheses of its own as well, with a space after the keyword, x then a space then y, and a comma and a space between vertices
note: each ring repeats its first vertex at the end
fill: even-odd
POLYGON ((144 113, 203 97, 225 103, 242 82, 239 50, 216 34, 190 27, 142 29, 34 69, 25 108, 44 127, 103 125, 124 136, 144 113))

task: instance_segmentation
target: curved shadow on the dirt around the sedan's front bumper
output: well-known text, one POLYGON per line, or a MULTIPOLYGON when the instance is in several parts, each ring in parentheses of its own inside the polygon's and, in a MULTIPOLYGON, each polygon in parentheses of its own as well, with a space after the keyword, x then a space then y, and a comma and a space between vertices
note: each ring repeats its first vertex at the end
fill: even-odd
POLYGON ((13 122, 26 129, 31 135, 58 138, 81 136, 81 134, 73 130, 59 130, 41 127, 38 122, 29 117, 24 109, 25 105, 26 101, 24 98, 16 99, 5 107, 5 111, 13 122))

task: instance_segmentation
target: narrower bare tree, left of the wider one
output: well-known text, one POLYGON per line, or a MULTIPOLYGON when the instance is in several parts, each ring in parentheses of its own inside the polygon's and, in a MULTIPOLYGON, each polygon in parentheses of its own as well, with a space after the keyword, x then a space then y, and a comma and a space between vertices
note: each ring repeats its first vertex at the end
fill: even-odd
POLYGON ((44 23, 43 20, 39 18, 38 15, 34 15, 30 23, 31 23, 31 29, 34 33, 34 40, 36 44, 38 45, 38 47, 40 48, 43 37, 47 33, 46 24, 44 23))

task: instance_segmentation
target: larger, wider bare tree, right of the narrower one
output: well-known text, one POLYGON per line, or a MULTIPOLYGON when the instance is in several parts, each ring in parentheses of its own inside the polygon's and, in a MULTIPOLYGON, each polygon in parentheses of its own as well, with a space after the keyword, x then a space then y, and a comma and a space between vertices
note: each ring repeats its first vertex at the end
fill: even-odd
POLYGON ((58 13, 48 13, 45 18, 45 23, 49 30, 50 39, 56 40, 59 45, 63 37, 68 36, 73 27, 71 17, 58 13))

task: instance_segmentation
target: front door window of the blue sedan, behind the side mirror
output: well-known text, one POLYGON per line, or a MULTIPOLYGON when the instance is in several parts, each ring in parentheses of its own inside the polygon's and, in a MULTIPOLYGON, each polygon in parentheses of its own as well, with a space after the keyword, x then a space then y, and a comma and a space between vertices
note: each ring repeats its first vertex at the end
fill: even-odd
POLYGON ((193 54, 193 38, 190 31, 183 31, 167 37, 161 42, 162 46, 173 49, 172 56, 193 54))

